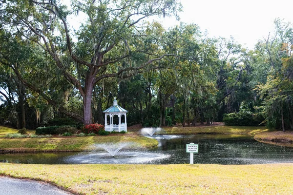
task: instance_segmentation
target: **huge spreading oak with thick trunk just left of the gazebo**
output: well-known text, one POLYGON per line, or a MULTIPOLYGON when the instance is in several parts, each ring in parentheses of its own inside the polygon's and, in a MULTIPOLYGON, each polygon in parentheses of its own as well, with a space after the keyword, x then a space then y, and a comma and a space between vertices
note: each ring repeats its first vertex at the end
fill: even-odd
POLYGON ((73 11, 87 16, 86 23, 76 33, 70 31, 67 21, 72 12, 55 1, 1 0, 1 3, 3 23, 12 21, 8 22, 10 27, 15 27, 25 39, 38 43, 55 61, 63 78, 79 91, 83 116, 67 114, 84 124, 92 123, 92 91, 97 83, 110 77, 130 77, 156 60, 174 56, 153 56, 149 48, 137 50, 134 46, 137 40, 144 39, 144 30, 139 28, 142 21, 150 16, 176 15, 181 9, 177 0, 73 1, 73 11))

